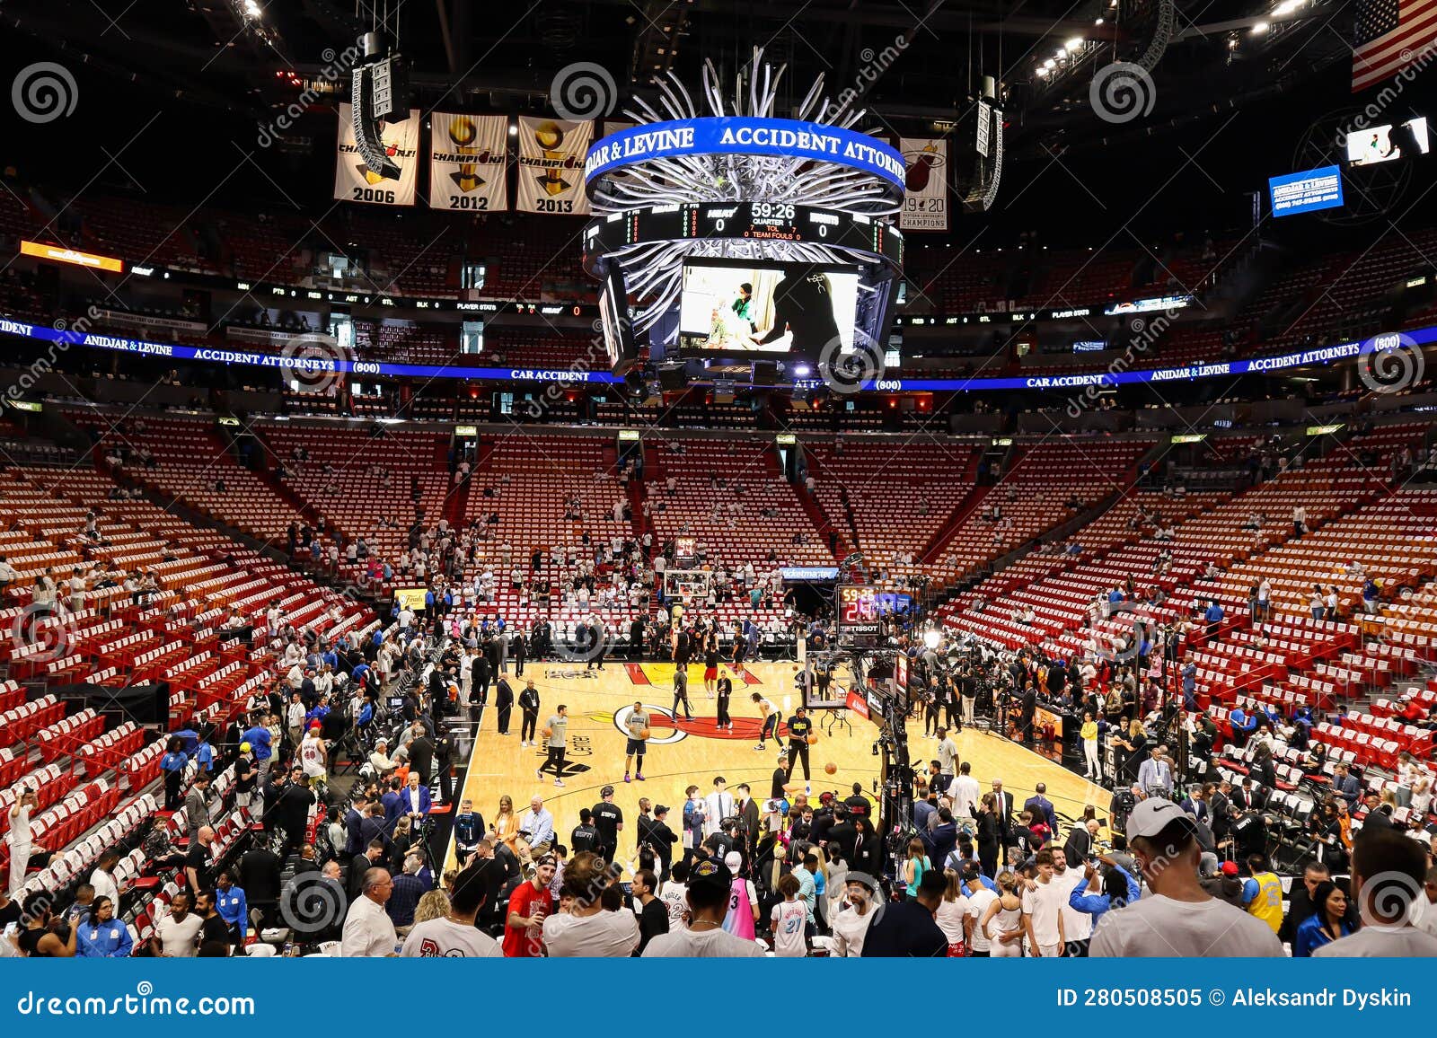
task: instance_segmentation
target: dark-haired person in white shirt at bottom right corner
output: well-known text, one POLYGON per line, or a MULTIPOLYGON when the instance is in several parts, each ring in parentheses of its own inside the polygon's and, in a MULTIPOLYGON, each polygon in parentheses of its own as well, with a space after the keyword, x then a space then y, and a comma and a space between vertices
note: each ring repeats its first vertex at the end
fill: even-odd
POLYGON ((1365 832, 1352 844, 1352 897, 1362 929, 1312 953, 1313 959, 1433 959, 1437 936, 1413 923, 1437 909, 1426 900, 1427 853, 1395 830, 1365 832))

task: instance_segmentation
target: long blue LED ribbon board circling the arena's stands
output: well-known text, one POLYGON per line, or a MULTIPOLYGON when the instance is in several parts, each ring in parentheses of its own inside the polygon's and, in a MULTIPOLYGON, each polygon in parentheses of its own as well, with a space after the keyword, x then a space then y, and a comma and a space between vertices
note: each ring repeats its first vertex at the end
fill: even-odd
MULTIPOLYGON (((63 342, 66 345, 89 346, 92 349, 114 349, 142 357, 160 357, 200 364, 247 365, 257 368, 292 368, 300 371, 382 375, 389 378, 463 378, 483 382, 559 382, 563 385, 612 385, 624 380, 608 371, 576 371, 570 368, 468 368, 463 365, 434 364, 381 364, 378 361, 346 361, 306 357, 280 357, 277 354, 251 352, 244 349, 223 349, 214 346, 181 346, 168 342, 126 339, 119 335, 96 335, 75 331, 59 331, 49 325, 36 325, 0 315, 0 335, 14 335, 42 342, 63 342)), ((1417 345, 1437 342, 1437 326, 1404 332, 1417 345)), ((1381 336, 1380 336, 1381 338, 1381 336)), ((1138 385, 1142 382, 1178 382, 1198 378, 1232 378, 1234 375, 1263 374, 1300 368, 1312 364, 1329 364, 1358 357, 1372 351, 1368 342, 1344 342, 1321 349, 1305 349, 1279 357, 1255 357, 1249 361, 1224 361, 1221 364, 1193 364, 1183 368, 1155 368, 1151 371, 1096 371, 1081 375, 1030 375, 1027 378, 885 378, 881 382, 869 380, 865 390, 885 392, 970 392, 974 390, 1073 390, 1085 385, 1138 385)))

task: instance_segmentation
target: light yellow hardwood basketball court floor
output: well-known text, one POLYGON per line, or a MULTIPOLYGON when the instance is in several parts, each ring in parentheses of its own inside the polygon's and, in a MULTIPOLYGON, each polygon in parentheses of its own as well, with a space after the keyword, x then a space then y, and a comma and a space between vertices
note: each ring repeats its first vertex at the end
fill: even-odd
MULTIPOLYGON (((680 835, 683 835, 684 788, 690 784, 697 785, 704 795, 713 789, 714 776, 723 775, 730 792, 740 782, 747 782, 756 799, 762 802, 767 796, 780 743, 770 739, 766 750, 753 749, 759 736, 759 710, 750 696, 754 692, 763 694, 779 707, 783 717, 787 717, 798 702, 793 673, 792 663, 760 663, 747 667, 743 676, 746 684, 737 677, 733 681, 730 715, 734 730, 718 732, 716 704, 704 692, 701 666, 693 664, 688 669, 688 702, 693 704, 694 719, 684 720, 680 707, 675 726, 670 713, 674 703, 671 663, 609 661, 602 671, 585 671, 582 664, 572 663, 530 663, 525 667, 525 679, 532 677, 539 690, 540 746, 520 748, 517 707, 513 710, 509 735, 500 736, 496 726, 497 715, 490 706, 484 710, 474 740, 460 799, 471 799, 487 825, 499 811, 502 794, 513 799, 514 811, 520 814, 527 809, 529 798, 537 794, 553 812, 559 842, 568 844, 570 830, 579 824, 581 808, 592 808, 599 801, 599 791, 605 785, 612 785, 614 802, 624 811, 619 847, 621 858, 627 864, 634 853, 641 796, 654 804, 668 805, 668 825, 680 835), (632 707, 635 702, 644 703, 650 710, 652 738, 644 765, 645 781, 625 784, 625 735, 615 715, 632 707), (543 725, 560 703, 569 707, 569 750, 562 789, 555 788, 552 773, 546 772, 543 781, 535 778, 535 769, 546 759, 542 748, 543 725)), ((525 681, 510 676, 510 683, 517 697, 525 681)), ((878 729, 856 715, 844 712, 842 716, 846 717, 848 727, 842 725, 831 727, 829 713, 816 713, 819 740, 809 752, 810 801, 816 802, 825 789, 848 795, 854 782, 862 782, 864 792, 874 798, 872 789, 881 762, 881 758, 872 753, 878 729), (836 765, 833 775, 825 773, 823 768, 828 763, 836 765)), ((921 730, 920 722, 917 732, 921 730)), ((908 733, 910 753, 915 766, 920 759, 931 759, 935 740, 915 735, 912 722, 908 725, 908 733)), ((1039 782, 1046 782, 1048 798, 1053 801, 1061 818, 1081 815, 1085 804, 1095 804, 1101 818, 1108 814, 1106 791, 1007 739, 977 729, 964 729, 956 736, 956 742, 960 761, 973 763, 973 776, 979 781, 980 789, 987 791, 993 778, 1002 778, 1004 789, 1013 794, 1015 807, 1032 796, 1039 782)), ((802 781, 802 763, 795 771, 793 781, 802 781)), ((1066 824, 1062 831, 1066 837, 1066 824)))

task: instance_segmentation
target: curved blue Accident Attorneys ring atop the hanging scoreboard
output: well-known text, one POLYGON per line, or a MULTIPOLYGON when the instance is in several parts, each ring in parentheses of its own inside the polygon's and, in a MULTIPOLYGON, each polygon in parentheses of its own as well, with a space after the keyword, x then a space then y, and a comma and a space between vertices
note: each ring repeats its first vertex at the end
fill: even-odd
POLYGON ((609 134, 589 148, 583 180, 655 158, 684 155, 759 155, 832 162, 874 174, 902 194, 904 161, 894 148, 868 134, 798 119, 706 116, 654 122, 609 134))

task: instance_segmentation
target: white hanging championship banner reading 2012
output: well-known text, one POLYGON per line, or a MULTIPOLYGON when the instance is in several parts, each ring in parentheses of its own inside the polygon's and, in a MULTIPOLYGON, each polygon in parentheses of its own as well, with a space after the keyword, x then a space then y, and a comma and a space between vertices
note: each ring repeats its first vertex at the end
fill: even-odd
POLYGON ((430 208, 499 213, 509 208, 509 119, 430 115, 430 208))

